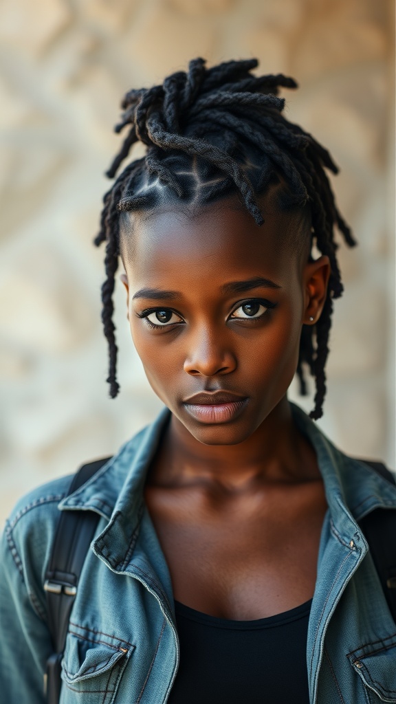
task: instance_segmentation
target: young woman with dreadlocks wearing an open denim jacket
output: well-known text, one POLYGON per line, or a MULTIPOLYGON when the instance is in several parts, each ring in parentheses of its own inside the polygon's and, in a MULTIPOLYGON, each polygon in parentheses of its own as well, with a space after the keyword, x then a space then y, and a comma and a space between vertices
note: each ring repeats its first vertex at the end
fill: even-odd
POLYGON ((61 703, 396 701, 396 634, 359 521, 396 488, 287 400, 322 413, 342 293, 328 152, 282 115, 282 75, 190 63, 123 101, 104 199, 111 396, 120 257, 132 339, 166 408, 82 488, 24 498, 1 557, 4 702, 42 703, 44 575, 59 510, 100 515, 70 617, 61 703), (312 255, 313 246, 319 256, 312 255))

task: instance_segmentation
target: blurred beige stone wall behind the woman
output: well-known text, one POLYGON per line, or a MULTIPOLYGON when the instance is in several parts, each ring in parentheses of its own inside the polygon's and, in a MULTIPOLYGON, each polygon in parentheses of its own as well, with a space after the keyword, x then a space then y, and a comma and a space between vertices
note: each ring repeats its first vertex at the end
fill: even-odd
MULTIPOLYGON (((333 153, 342 213, 328 398, 342 450, 395 467, 393 26, 387 0, 2 0, 0 524, 20 494, 114 453, 158 412, 117 284, 116 400, 92 246, 120 98, 186 68, 256 56, 297 78, 287 117, 333 153)), ((136 153, 136 156, 138 154, 136 153)), ((292 398, 298 398, 293 387, 292 398)), ((311 408, 311 399, 302 403, 311 408)))

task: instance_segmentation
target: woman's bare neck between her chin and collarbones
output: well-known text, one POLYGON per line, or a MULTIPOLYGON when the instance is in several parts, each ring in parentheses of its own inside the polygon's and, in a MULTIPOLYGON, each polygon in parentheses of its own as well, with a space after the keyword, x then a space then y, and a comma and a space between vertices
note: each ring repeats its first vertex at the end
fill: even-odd
POLYGON ((298 481, 316 472, 314 451, 297 430, 285 397, 256 431, 237 445, 204 445, 172 415, 151 481, 216 482, 237 489, 255 479, 298 481))

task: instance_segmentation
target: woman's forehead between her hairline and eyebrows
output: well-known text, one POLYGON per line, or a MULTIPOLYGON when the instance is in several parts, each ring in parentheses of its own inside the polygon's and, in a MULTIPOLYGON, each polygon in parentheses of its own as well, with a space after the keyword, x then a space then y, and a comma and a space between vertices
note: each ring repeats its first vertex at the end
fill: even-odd
POLYGON ((284 276, 299 257, 292 241, 302 237, 301 217, 264 210, 259 227, 235 201, 220 201, 197 213, 172 209, 147 215, 125 214, 121 253, 128 277, 137 281, 179 277, 251 275, 258 268, 284 276))

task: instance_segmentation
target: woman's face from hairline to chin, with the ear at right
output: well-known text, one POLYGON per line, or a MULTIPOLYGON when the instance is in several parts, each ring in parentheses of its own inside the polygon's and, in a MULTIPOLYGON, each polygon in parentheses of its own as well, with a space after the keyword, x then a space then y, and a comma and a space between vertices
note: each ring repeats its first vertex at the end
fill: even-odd
MULTIPOLYGON (((121 244, 130 329, 149 383, 204 444, 247 439, 285 399, 303 323, 326 296, 297 215, 258 227, 227 200, 197 215, 130 215, 121 244), (133 231, 132 231, 133 230, 133 231), (293 232, 295 231, 295 232, 293 232)), ((307 227, 305 225, 305 227, 307 227)))

